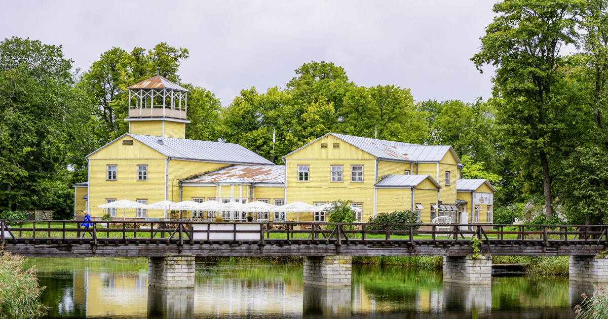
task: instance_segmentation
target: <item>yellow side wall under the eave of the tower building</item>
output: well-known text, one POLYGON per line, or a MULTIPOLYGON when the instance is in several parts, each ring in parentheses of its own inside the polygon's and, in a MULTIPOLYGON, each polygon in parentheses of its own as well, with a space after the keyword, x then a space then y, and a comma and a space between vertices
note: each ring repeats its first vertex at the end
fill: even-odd
MULTIPOLYGON (((169 161, 169 190, 167 200, 179 202, 179 181, 186 177, 206 174, 229 166, 224 163, 195 162, 192 160, 171 159, 169 161)), ((164 171, 164 170, 163 170, 164 171)), ((229 193, 230 194, 230 193, 229 193)), ((230 196, 228 196, 230 197, 230 196)))

